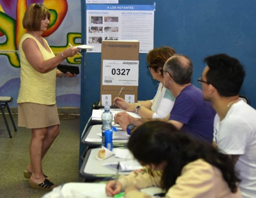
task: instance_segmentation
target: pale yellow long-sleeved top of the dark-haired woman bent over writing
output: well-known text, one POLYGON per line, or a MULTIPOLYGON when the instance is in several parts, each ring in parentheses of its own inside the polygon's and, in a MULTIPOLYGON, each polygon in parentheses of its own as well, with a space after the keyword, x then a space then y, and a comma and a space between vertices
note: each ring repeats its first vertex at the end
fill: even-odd
MULTIPOLYGON (((120 176, 123 188, 136 185, 139 188, 160 186, 161 173, 147 168, 131 172, 128 176, 120 176)), ((126 198, 150 197, 144 192, 130 191, 126 198)), ((238 189, 232 193, 220 170, 202 159, 195 160, 183 167, 176 183, 171 186, 165 197, 170 198, 242 198, 238 189)))

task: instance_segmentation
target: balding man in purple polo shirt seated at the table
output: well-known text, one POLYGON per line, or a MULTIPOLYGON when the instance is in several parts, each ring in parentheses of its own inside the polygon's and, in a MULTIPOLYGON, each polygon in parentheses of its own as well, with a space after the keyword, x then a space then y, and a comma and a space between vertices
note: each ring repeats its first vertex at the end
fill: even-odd
MULTIPOLYGON (((191 84, 192 61, 185 55, 176 54, 165 62, 163 72, 164 86, 175 97, 168 122, 178 130, 212 144, 216 112, 210 102, 203 100, 202 91, 191 84)), ((115 122, 128 132, 147 121, 149 120, 133 118, 126 112, 115 115, 115 122)))

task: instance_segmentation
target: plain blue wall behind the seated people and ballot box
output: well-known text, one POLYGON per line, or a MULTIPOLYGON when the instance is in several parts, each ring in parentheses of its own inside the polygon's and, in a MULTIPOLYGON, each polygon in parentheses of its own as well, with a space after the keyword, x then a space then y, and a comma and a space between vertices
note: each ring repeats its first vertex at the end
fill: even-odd
MULTIPOLYGON (((154 47, 171 46, 189 56, 194 64, 192 83, 205 64, 203 58, 227 53, 238 58, 245 67, 246 77, 241 94, 256 108, 256 1, 252 0, 119 0, 119 4, 153 4, 156 2, 154 47)), ((82 3, 82 37, 86 8, 82 3)), ((91 116, 91 105, 100 99, 101 53, 85 53, 81 80, 81 130, 91 116)), ((146 54, 140 54, 138 100, 151 99, 155 81, 146 70, 146 54), (145 75, 147 74, 147 75, 145 75)))

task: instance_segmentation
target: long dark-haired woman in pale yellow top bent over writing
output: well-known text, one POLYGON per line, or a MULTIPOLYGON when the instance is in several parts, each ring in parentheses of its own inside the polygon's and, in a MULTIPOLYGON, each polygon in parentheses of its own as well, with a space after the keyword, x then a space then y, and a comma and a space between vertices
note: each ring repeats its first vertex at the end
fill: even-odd
POLYGON ((230 158, 210 145, 191 139, 168 123, 147 122, 131 135, 129 150, 145 167, 106 185, 113 196, 148 197, 141 188, 159 186, 165 197, 241 198, 230 158))

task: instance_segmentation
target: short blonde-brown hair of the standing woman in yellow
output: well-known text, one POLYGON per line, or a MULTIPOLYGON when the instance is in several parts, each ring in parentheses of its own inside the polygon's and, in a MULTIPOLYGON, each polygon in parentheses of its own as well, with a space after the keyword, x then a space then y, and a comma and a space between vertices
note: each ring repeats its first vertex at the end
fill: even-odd
POLYGON ((51 13, 43 4, 32 3, 26 9, 22 20, 23 28, 33 31, 38 31, 41 28, 41 21, 47 17, 50 21, 51 13))

